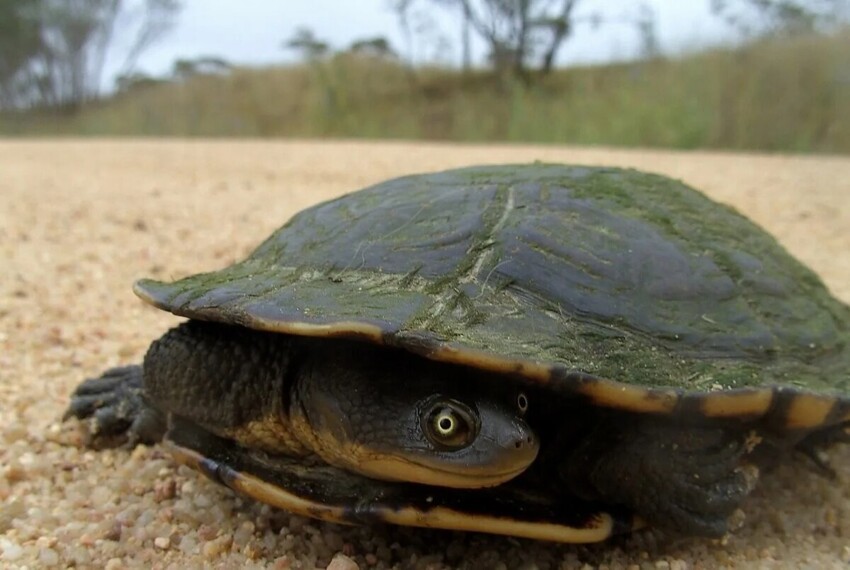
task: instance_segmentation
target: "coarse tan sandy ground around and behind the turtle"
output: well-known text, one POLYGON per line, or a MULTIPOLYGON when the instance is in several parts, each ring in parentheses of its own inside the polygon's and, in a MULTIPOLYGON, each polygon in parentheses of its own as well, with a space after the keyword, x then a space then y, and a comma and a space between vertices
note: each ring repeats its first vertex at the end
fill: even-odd
POLYGON ((130 291, 228 264, 291 214, 386 178, 476 163, 633 166, 754 218, 850 302, 850 159, 395 143, 0 141, 0 565, 258 568, 846 568, 843 479, 767 478, 723 541, 563 546, 347 528, 274 511, 157 447, 92 452, 59 418, 82 379, 140 360, 176 318, 130 291))

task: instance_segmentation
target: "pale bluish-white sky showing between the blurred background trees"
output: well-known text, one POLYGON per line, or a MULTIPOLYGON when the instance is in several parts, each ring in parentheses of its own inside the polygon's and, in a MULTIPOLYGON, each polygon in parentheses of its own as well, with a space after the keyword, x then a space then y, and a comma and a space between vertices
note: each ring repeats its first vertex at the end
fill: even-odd
MULTIPOLYGON (((709 0, 645 0, 655 11, 659 43, 665 53, 694 49, 732 39, 731 30, 709 12, 709 0)), ((183 0, 174 29, 140 58, 139 71, 165 75, 177 58, 216 56, 233 64, 272 65, 293 62, 297 54, 284 49, 285 40, 301 26, 334 48, 356 39, 385 36, 409 58, 409 49, 390 0, 183 0)), ((431 21, 430 34, 412 46, 413 59, 460 63, 460 19, 433 2, 419 0, 419 21, 431 21), (434 30, 433 28, 436 28, 434 30), (442 35, 450 49, 437 49, 442 35)), ((637 0, 582 0, 577 14, 598 11, 608 17, 634 15, 637 0), (631 10, 631 12, 629 12, 631 10)), ((445 45, 445 42, 444 42, 445 45)), ((565 43, 558 63, 596 63, 628 59, 639 49, 632 27, 613 24, 592 29, 584 25, 565 43)), ((475 58, 483 60, 478 43, 475 58)), ((120 65, 108 62, 107 75, 120 65)))

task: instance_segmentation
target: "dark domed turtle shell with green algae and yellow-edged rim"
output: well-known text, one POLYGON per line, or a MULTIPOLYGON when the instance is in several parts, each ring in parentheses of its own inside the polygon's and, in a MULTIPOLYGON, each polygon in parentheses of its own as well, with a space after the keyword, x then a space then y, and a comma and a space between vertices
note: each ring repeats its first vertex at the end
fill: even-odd
POLYGON ((850 420, 850 307, 769 234, 658 175, 483 166, 302 211, 147 302, 520 376, 596 405, 810 430, 850 420))

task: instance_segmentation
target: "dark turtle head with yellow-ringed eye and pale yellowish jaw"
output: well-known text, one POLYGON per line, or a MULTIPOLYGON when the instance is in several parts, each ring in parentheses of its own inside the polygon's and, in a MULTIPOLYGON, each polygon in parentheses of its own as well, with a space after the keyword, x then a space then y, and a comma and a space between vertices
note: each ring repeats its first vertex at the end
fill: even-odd
POLYGON ((339 348, 308 359, 290 402, 299 439, 329 464, 375 479, 479 488, 516 477, 537 457, 523 393, 409 353, 339 348))

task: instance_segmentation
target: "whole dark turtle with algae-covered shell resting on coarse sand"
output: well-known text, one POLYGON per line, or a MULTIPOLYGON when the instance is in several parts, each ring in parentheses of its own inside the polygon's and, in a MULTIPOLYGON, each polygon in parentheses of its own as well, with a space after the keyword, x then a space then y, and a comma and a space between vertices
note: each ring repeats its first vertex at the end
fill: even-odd
POLYGON ((186 320, 66 417, 325 521, 718 537, 761 474, 834 475, 822 450, 850 440, 850 307, 657 174, 410 175, 134 292, 186 320))

